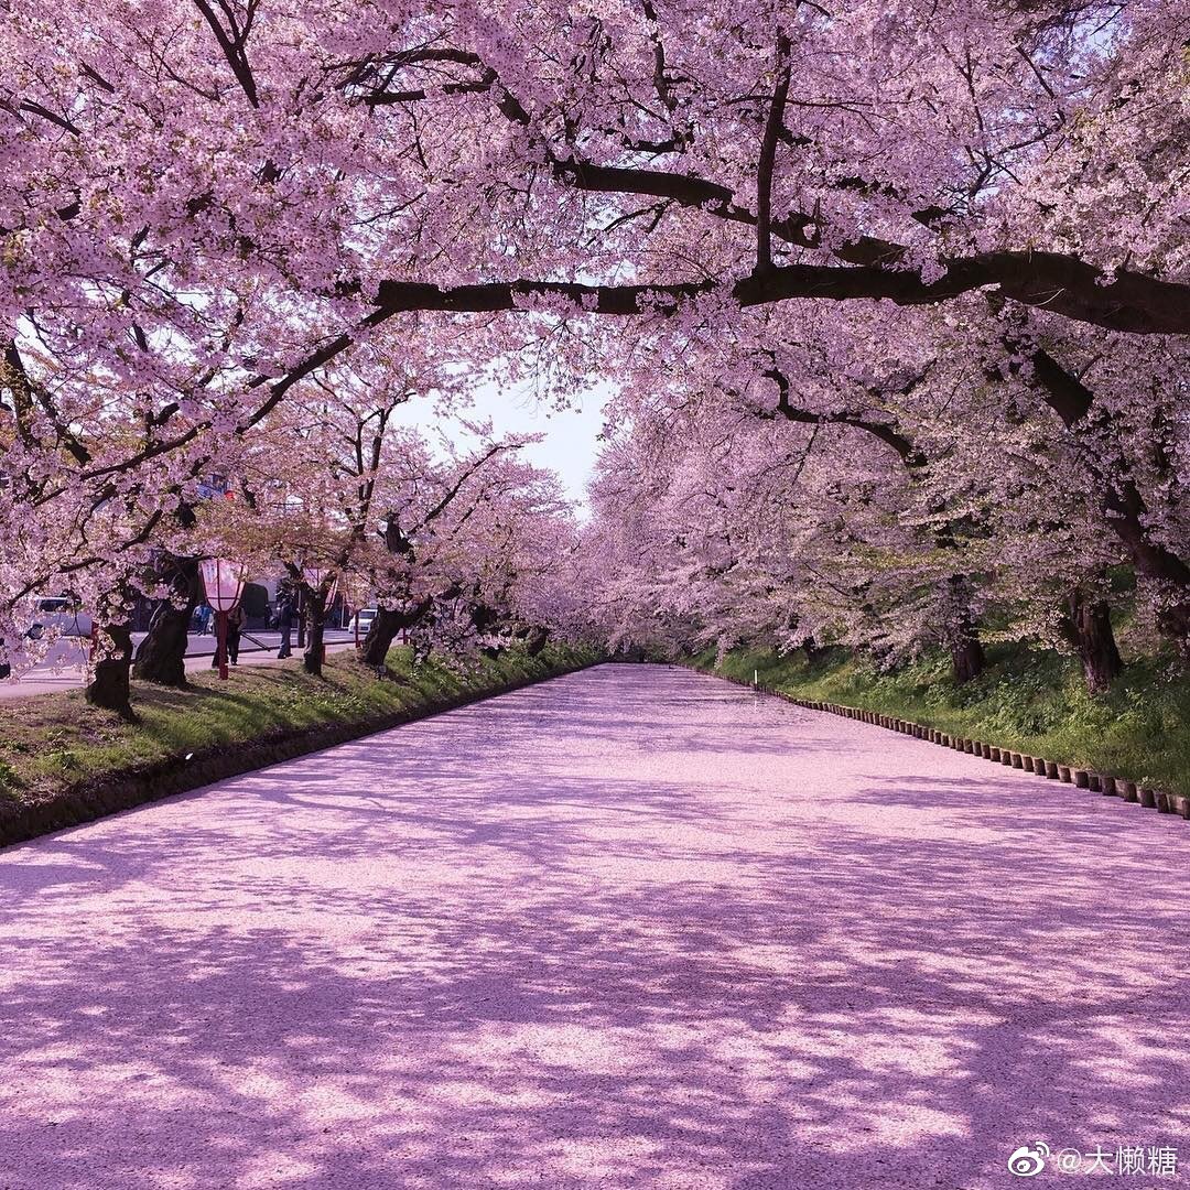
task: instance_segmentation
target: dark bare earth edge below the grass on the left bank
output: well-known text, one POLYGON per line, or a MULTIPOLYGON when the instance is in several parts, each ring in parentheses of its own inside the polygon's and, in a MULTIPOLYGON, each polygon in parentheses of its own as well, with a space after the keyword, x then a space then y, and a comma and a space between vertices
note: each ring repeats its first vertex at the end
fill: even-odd
MULTIPOLYGON (((174 794, 186 794, 203 785, 239 777, 245 772, 268 769, 274 764, 295 760, 301 756, 322 752, 339 744, 387 732, 405 724, 457 710, 475 702, 483 702, 501 694, 522 690, 565 674, 597 665, 599 659, 574 665, 559 665, 546 674, 509 682, 507 685, 484 690, 459 691, 445 699, 434 699, 419 707, 357 719, 350 722, 324 724, 319 727, 277 732, 259 740, 203 749, 187 757, 167 757, 134 771, 113 774, 107 779, 89 781, 48 797, 44 801, 0 807, 0 848, 26 843, 54 831, 82 826, 95 819, 157 802, 174 794)), ((378 681, 378 679, 377 679, 378 681)))

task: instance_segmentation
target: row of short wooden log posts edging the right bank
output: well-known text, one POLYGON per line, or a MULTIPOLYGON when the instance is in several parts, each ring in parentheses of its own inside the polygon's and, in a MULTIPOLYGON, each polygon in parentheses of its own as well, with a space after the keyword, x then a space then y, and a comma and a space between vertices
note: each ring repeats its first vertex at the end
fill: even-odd
POLYGON ((926 727, 908 719, 896 719, 892 715, 882 715, 859 707, 847 707, 838 702, 821 702, 815 699, 798 699, 785 690, 760 685, 743 678, 727 677, 725 674, 716 674, 715 677, 734 682, 737 685, 747 687, 750 690, 760 690, 764 694, 776 695, 778 699, 791 702, 795 707, 803 707, 807 710, 821 710, 828 715, 858 719, 876 727, 884 727, 904 735, 913 735, 929 744, 938 744, 941 747, 950 747, 958 752, 978 756, 985 760, 991 760, 994 764, 1020 769, 1022 772, 1031 772, 1044 779, 1059 781, 1073 785, 1076 789, 1097 793, 1107 797, 1119 797, 1123 802, 1139 804, 1145 809, 1155 809, 1159 814, 1176 814, 1179 818, 1190 819, 1190 796, 1172 794, 1164 789, 1154 789, 1147 782, 1138 783, 1126 777, 1113 776, 1111 774, 1095 772, 1090 769, 1081 769, 1075 765, 1047 760, 1044 757, 1013 752, 1009 749, 985 744, 983 740, 952 735, 950 732, 942 732, 935 727, 926 727))

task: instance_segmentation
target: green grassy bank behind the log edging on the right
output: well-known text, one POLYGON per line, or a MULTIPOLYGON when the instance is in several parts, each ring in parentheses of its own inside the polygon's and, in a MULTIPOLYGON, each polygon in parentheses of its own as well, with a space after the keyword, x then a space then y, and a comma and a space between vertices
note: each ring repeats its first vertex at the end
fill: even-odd
POLYGON ((802 653, 738 650, 719 670, 713 651, 699 669, 802 699, 839 702, 909 719, 1064 764, 1148 779, 1190 794, 1190 677, 1172 663, 1128 665, 1107 695, 1091 697, 1078 665, 1056 653, 998 649, 985 674, 957 687, 950 664, 927 657, 891 672, 832 651, 808 662, 802 653))

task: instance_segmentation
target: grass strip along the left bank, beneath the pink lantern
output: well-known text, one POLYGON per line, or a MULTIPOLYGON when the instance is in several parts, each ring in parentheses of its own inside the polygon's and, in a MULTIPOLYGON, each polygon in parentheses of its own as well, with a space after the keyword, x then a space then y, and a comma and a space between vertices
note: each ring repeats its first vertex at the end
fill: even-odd
POLYGON ((322 677, 311 677, 295 658, 233 670, 227 682, 190 675, 187 690, 133 682, 138 724, 88 706, 81 690, 14 699, 0 702, 0 798, 42 801, 188 752, 413 714, 595 659, 594 650, 547 645, 537 657, 509 651, 461 672, 433 657, 414 668, 409 650, 394 649, 382 681, 353 654, 330 654, 322 677))

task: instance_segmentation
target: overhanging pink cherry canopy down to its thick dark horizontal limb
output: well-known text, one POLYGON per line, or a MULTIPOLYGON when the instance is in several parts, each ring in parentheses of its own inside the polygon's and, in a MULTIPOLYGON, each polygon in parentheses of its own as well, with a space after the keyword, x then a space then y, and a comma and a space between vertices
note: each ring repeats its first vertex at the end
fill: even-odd
POLYGON ((55 375, 136 382, 126 465, 262 416, 408 311, 988 290, 1190 328, 1165 0, 7 15, 5 321, 55 375))

